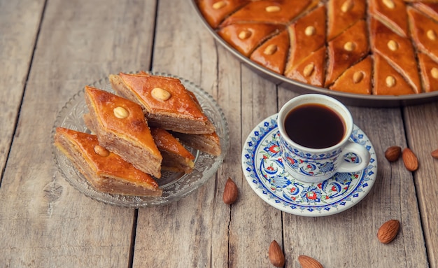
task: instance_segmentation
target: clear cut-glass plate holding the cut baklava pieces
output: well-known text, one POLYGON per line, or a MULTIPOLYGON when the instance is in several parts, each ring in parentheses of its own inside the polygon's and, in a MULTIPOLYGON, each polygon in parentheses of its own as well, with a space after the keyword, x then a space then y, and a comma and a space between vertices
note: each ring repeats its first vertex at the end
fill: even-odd
MULTIPOLYGON (((137 72, 138 71, 130 71, 128 73, 137 72)), ((169 176, 180 177, 178 177, 173 183, 168 183, 164 185, 164 187, 162 188, 162 197, 137 197, 129 195, 113 195, 95 190, 94 188, 92 188, 92 185, 87 181, 87 179, 82 174, 80 174, 80 172, 77 171, 76 168, 73 167, 67 157, 62 154, 56 148, 56 146, 52 145, 53 160, 55 161, 55 164, 58 167, 62 176, 66 179, 67 182, 69 182, 73 186, 73 188, 76 188, 76 190, 82 192, 87 197, 106 204, 111 204, 114 206, 124 206, 131 209, 169 204, 171 202, 176 202, 183 197, 186 197, 187 195, 204 185, 204 183, 209 181, 209 179, 212 178, 214 174, 216 174, 216 171, 218 170, 225 158, 225 154, 227 153, 229 147, 229 129, 225 114, 223 113, 222 108, 220 108, 216 100, 213 99, 213 97, 208 92, 204 91, 201 87, 195 85, 195 83, 192 83, 185 78, 157 71, 146 71, 146 73, 157 76, 178 78, 188 90, 195 93, 199 104, 201 104, 202 108, 204 109, 204 113, 206 113, 206 115, 213 122, 213 125, 215 125, 216 127, 216 133, 220 138, 221 154, 218 156, 213 156, 189 148, 189 150, 192 150, 193 155, 195 155, 195 168, 193 169, 192 173, 175 174, 172 172, 164 171, 161 179, 167 176, 167 174, 170 174, 169 176), (216 120, 213 120, 212 117, 216 118, 216 120), (206 162, 205 165, 204 162, 206 162)), ((100 80, 97 80, 96 82, 90 84, 90 86, 114 93, 108 77, 101 78, 100 80)), ((68 122, 69 119, 71 119, 69 118, 69 116, 71 116, 71 113, 81 114, 84 112, 78 111, 80 107, 85 106, 84 88, 82 90, 79 90, 79 92, 76 92, 76 94, 73 94, 73 97, 71 97, 69 101, 64 104, 64 106, 57 114, 57 118, 52 128, 52 140, 55 134, 56 127, 66 127, 66 121, 68 122)), ((87 111, 86 106, 85 109, 85 111, 87 111)), ((73 126, 82 128, 82 130, 75 129, 78 131, 85 131, 85 129, 87 129, 87 127, 83 123, 83 120, 75 122, 75 125, 73 126)))

